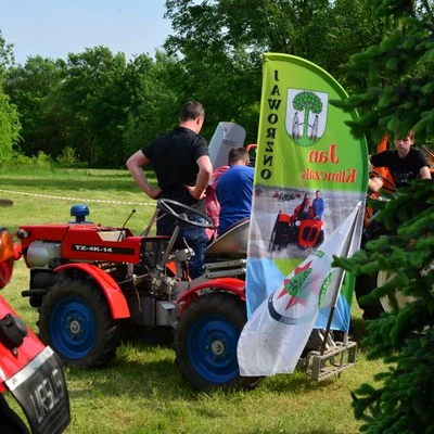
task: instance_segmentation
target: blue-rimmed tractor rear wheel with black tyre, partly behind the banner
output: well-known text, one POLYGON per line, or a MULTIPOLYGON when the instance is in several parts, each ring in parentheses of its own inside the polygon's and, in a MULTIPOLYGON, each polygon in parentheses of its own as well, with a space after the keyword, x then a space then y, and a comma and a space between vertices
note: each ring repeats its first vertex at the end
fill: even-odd
POLYGON ((195 298, 175 334, 177 365, 196 388, 254 388, 261 376, 241 376, 237 345, 246 322, 245 303, 215 292, 195 298))

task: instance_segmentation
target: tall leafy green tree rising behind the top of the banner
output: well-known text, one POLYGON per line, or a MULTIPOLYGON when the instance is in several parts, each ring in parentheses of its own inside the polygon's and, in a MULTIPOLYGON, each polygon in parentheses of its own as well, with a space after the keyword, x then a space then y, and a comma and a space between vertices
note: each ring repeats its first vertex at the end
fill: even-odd
POLYGON ((184 99, 207 110, 204 135, 218 122, 241 124, 255 142, 259 118, 261 53, 276 51, 312 60, 327 33, 329 1, 269 0, 166 1, 175 35, 165 44, 180 53, 184 74, 174 79, 184 99))

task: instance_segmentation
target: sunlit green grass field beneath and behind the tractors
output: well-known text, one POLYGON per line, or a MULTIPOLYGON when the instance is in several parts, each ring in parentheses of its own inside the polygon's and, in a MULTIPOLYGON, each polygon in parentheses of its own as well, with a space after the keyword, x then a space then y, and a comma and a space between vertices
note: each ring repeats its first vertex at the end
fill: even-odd
MULTIPOLYGON (((0 225, 13 233, 20 225, 68 221, 71 206, 86 203, 89 220, 111 226, 122 226, 136 209, 127 226, 139 234, 154 209, 126 170, 0 173, 0 197, 14 202, 0 207, 0 225)), ((21 296, 27 288, 28 270, 18 260, 2 295, 37 331, 37 311, 21 296)), ((356 304, 353 315, 354 333, 360 339, 363 322, 356 304)), ((170 345, 149 337, 123 343, 105 369, 65 369, 72 406, 67 434, 356 433, 360 422, 354 419, 350 392, 386 369, 367 360, 361 348, 355 367, 321 383, 295 372, 267 378, 251 392, 205 394, 182 379, 170 345)))

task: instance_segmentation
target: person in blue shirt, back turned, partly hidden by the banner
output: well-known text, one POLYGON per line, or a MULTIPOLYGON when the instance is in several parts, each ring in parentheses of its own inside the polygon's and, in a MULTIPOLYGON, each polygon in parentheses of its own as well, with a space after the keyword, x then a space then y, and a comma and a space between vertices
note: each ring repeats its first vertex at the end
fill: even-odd
POLYGON ((248 163, 250 156, 244 148, 229 151, 229 169, 217 182, 217 199, 220 203, 217 235, 232 224, 251 216, 254 168, 248 163))

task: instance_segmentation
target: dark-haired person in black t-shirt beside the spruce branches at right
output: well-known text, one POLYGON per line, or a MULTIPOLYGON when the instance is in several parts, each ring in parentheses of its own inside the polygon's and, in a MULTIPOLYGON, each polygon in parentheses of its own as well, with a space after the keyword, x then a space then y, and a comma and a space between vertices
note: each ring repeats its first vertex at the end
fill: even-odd
MULTIPOLYGON (((392 175, 396 188, 409 186, 416 178, 431 179, 430 165, 425 155, 419 149, 411 148, 414 143, 414 132, 411 130, 403 139, 395 139, 395 150, 387 150, 369 157, 375 167, 386 167, 392 175)), ((379 191, 382 181, 369 180, 371 191, 379 191)))

